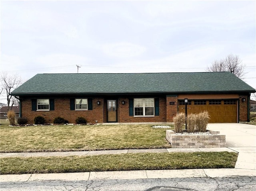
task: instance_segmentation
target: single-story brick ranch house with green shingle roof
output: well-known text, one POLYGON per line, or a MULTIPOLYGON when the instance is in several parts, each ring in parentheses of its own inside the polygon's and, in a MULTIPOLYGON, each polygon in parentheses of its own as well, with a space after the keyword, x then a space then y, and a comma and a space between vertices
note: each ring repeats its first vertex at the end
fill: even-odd
POLYGON ((37 74, 15 89, 21 116, 71 123, 172 122, 178 112, 207 110, 211 123, 249 120, 255 89, 230 72, 37 74))

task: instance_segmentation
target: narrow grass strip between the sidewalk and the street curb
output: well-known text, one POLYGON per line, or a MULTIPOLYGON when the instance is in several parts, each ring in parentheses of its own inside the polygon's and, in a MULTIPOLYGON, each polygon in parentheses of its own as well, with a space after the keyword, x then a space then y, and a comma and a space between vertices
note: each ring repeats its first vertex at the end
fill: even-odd
POLYGON ((160 169, 234 168, 235 152, 140 153, 98 156, 1 158, 1 174, 160 169))

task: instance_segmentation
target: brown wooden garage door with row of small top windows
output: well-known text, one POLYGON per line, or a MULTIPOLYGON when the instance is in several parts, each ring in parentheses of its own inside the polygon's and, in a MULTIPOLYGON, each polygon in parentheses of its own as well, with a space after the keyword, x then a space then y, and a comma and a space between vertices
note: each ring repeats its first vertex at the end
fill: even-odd
MULTIPOLYGON (((179 101, 179 112, 185 113, 184 100, 179 101)), ((208 111, 210 123, 237 123, 237 100, 191 100, 187 113, 208 111)))

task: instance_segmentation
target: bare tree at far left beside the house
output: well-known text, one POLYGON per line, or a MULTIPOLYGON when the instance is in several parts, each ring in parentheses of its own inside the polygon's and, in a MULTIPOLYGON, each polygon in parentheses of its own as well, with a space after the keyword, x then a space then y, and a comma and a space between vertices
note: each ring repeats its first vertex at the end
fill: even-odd
POLYGON ((10 95, 10 93, 19 85, 22 84, 21 77, 17 74, 15 75, 8 75, 6 72, 1 73, 1 88, 3 91, 1 91, 1 94, 6 93, 7 97, 7 107, 8 110, 12 109, 12 106, 18 105, 19 101, 14 98, 14 96, 10 95))

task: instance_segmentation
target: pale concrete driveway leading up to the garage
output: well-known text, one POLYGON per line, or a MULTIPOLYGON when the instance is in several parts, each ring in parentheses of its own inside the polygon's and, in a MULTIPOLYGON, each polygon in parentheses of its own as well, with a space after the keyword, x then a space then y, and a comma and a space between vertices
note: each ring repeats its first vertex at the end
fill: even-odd
POLYGON ((226 135, 226 147, 238 152, 235 168, 256 170, 256 126, 242 123, 211 123, 208 129, 226 135))

